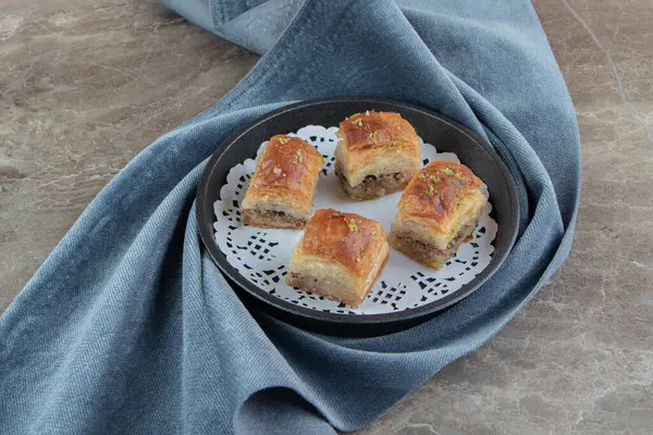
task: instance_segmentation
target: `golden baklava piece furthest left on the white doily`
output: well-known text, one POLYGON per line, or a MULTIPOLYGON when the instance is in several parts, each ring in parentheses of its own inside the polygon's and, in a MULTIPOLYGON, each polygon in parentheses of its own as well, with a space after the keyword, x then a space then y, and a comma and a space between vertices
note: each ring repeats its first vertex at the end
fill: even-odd
POLYGON ((276 135, 261 153, 241 204, 245 225, 301 228, 312 212, 323 158, 298 137, 276 135))

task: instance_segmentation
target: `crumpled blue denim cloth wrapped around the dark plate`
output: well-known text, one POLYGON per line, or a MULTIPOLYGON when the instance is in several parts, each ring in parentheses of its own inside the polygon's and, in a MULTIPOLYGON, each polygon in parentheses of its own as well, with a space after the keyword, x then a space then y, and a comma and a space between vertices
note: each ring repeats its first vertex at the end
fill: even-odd
POLYGON ((165 0, 266 53, 91 202, 0 320, 0 433, 333 434, 360 428, 492 337, 563 264, 580 184, 571 101, 529 0, 165 0), (245 307, 194 195, 236 127, 289 102, 379 96, 488 138, 518 185, 513 252, 411 330, 337 338, 245 307))

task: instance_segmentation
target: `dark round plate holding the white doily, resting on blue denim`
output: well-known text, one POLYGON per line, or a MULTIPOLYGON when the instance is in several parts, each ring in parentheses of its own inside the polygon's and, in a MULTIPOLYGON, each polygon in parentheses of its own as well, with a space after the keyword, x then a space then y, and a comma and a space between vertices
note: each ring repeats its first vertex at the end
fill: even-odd
POLYGON ((505 164, 492 147, 463 125, 431 110, 399 101, 365 97, 337 97, 304 101, 270 112, 238 129, 213 153, 197 189, 199 234, 211 257, 239 296, 263 311, 295 325, 333 335, 372 336, 421 323, 477 290, 501 266, 510 251, 518 228, 517 190, 505 164), (340 314, 311 310, 272 296, 234 269, 213 239, 213 202, 230 170, 255 158, 260 145, 275 134, 296 132, 307 125, 337 126, 353 113, 377 110, 398 112, 418 135, 439 151, 454 152, 486 185, 492 217, 498 224, 490 264, 463 288, 434 302, 386 314, 340 314))

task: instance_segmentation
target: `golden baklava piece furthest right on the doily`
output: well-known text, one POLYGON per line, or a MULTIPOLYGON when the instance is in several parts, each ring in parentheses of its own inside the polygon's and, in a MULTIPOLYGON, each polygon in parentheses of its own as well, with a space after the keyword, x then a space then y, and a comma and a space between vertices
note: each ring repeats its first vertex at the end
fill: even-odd
POLYGON ((390 245, 440 269, 471 239, 488 199, 469 167, 444 160, 427 164, 404 190, 390 231, 390 245))

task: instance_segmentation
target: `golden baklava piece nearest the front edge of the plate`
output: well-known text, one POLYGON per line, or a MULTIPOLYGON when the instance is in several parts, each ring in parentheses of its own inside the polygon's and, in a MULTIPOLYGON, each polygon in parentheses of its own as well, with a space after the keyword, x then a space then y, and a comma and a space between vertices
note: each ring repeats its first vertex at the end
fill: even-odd
POLYGON ((286 283, 358 307, 385 266, 386 236, 371 219, 316 210, 293 251, 286 283))

